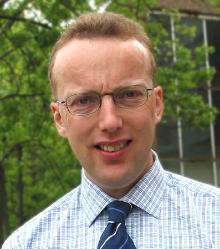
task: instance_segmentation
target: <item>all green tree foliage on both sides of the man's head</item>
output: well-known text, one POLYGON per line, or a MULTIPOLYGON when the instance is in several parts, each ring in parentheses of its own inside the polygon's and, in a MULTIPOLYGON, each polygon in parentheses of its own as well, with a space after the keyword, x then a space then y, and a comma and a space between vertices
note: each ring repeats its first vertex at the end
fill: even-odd
MULTIPOLYGON (((115 0, 107 10, 138 21, 150 34, 162 65, 156 81, 165 92, 165 120, 181 117, 186 126, 205 127, 216 114, 199 92, 214 73, 205 68, 207 48, 190 50, 181 42, 181 37, 193 40, 196 28, 182 25, 176 14, 173 61, 169 33, 148 15, 156 2, 115 0)), ((80 181, 79 163, 53 126, 47 65, 62 27, 91 9, 85 0, 14 0, 3 1, 0 7, 0 169, 5 172, 8 214, 8 224, 0 226, 9 227, 3 229, 5 238, 80 181)))

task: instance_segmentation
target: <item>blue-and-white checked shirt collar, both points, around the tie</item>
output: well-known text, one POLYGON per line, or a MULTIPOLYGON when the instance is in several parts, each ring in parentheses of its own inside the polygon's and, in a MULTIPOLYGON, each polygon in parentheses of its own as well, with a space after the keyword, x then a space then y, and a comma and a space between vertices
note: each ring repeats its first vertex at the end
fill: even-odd
MULTIPOLYGON (((130 202, 150 215, 159 218, 162 204, 161 200, 166 182, 164 170, 158 156, 155 152, 153 153, 155 160, 151 169, 121 200, 130 202)), ((82 207, 89 226, 105 207, 114 200, 114 198, 107 195, 102 189, 91 182, 85 176, 83 170, 81 197, 82 207)))

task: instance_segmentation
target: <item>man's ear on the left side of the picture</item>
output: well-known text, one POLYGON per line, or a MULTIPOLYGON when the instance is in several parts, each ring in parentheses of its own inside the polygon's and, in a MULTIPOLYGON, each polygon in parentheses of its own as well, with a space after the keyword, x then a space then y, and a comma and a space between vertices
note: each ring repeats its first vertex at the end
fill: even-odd
POLYGON ((57 128, 57 131, 58 131, 59 135, 61 137, 66 138, 66 128, 64 126, 62 116, 61 116, 60 111, 59 111, 59 104, 55 103, 55 102, 52 102, 50 104, 50 109, 52 111, 53 120, 54 120, 54 123, 55 123, 55 126, 57 128))

